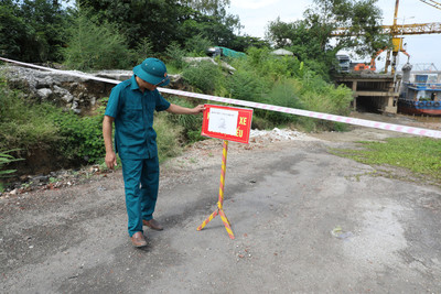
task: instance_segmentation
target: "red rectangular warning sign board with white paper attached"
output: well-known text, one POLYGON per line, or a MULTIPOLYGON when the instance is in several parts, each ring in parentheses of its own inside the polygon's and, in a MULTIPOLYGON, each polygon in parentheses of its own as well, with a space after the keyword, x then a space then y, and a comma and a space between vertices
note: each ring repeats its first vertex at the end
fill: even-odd
POLYGON ((205 105, 202 135, 248 144, 252 109, 205 105))

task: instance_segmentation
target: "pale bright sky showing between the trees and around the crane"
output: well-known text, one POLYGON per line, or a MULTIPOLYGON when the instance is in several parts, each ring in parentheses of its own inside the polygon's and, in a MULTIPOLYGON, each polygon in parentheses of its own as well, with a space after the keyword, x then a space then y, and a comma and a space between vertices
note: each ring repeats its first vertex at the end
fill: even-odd
MULTIPOLYGON (((434 0, 441 3, 441 0, 434 0)), ((394 23, 395 0, 378 0, 377 7, 383 11, 383 24, 394 23)), ((229 13, 239 15, 245 26, 241 34, 265 37, 266 28, 278 17, 283 22, 293 22, 303 18, 303 11, 313 3, 312 0, 230 0, 229 13)), ((401 0, 398 7, 398 24, 441 22, 441 10, 420 0, 401 0)), ((433 63, 441 70, 441 34, 405 35, 407 52, 413 69, 422 64, 433 63)), ((398 55, 398 68, 407 62, 407 56, 398 55)), ((386 53, 379 55, 377 68, 383 68, 386 53)), ((363 62, 363 61, 359 61, 363 62)), ((365 62, 370 62, 366 58, 365 62)), ((390 70, 390 68, 389 68, 390 70)))

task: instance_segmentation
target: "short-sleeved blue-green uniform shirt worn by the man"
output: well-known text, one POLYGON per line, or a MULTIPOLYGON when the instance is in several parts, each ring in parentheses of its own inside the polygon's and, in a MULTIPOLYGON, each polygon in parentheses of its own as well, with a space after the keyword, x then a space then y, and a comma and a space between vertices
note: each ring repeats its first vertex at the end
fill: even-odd
POLYGON ((135 75, 112 88, 105 115, 115 118, 115 148, 122 160, 158 155, 153 112, 169 107, 158 90, 142 92, 135 75))

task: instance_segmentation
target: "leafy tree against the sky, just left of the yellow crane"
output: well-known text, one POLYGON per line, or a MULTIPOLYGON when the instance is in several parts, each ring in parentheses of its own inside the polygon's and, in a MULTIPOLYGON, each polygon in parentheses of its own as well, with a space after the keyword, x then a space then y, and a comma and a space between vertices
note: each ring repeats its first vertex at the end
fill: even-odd
POLYGON ((354 50, 364 56, 387 46, 388 36, 381 34, 381 11, 377 0, 314 0, 314 6, 304 12, 304 20, 292 23, 280 19, 268 26, 267 37, 276 46, 291 46, 301 58, 324 58, 343 48, 354 50), (348 28, 351 35, 334 39, 336 28, 348 28))

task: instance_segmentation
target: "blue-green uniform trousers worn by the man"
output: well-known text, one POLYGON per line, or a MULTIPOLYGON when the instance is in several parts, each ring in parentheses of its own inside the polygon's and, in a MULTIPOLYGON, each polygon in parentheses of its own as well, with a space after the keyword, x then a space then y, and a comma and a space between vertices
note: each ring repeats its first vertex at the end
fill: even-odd
POLYGON ((153 218, 159 188, 158 156, 147 160, 121 160, 126 208, 130 237, 142 231, 142 219, 153 218))

